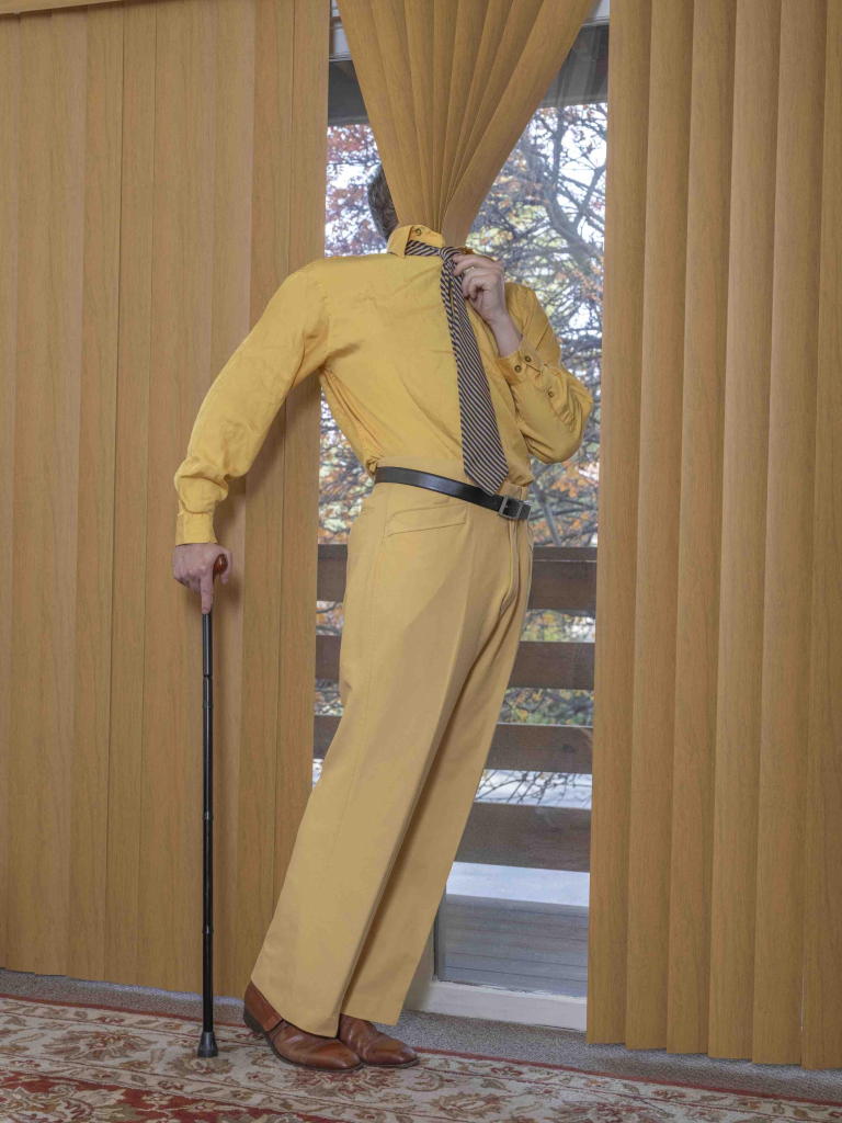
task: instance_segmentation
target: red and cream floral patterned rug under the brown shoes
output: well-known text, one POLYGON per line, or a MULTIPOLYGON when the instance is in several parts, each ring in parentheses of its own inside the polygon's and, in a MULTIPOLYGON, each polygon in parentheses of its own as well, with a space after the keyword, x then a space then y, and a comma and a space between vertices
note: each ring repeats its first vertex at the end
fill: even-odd
POLYGON ((842 1104, 419 1050, 421 1063, 322 1076, 245 1025, 0 996, 3 1123, 704 1123, 840 1121, 842 1104))

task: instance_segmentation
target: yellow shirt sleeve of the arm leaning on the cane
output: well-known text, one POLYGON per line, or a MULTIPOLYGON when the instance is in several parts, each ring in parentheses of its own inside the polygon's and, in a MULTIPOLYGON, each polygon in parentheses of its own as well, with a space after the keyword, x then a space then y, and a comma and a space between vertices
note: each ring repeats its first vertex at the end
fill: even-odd
POLYGON ((291 273, 211 384, 173 482, 175 545, 216 542, 213 512, 228 480, 245 475, 289 392, 329 354, 329 316, 320 285, 291 273))

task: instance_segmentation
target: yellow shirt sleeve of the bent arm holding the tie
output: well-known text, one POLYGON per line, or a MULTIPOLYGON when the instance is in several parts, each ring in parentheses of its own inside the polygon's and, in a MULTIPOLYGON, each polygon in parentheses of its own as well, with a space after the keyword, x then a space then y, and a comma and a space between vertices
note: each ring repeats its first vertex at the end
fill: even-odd
POLYGON ((530 453, 542 464, 568 459, 582 444, 594 399, 560 362, 561 347, 536 293, 516 285, 512 319, 523 338, 518 350, 496 358, 516 408, 530 453))

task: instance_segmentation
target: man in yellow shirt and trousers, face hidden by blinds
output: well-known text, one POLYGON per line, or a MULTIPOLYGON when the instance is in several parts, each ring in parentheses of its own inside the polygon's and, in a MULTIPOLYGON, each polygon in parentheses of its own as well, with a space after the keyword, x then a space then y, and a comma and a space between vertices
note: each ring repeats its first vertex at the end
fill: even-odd
POLYGON ((593 398, 536 294, 368 191, 386 254, 281 284, 217 376, 175 474, 173 568, 212 596, 213 510, 289 391, 318 372, 375 485, 348 539, 342 718, 246 992, 283 1060, 418 1061, 394 1024, 488 754, 532 572, 530 454, 579 447, 593 398))

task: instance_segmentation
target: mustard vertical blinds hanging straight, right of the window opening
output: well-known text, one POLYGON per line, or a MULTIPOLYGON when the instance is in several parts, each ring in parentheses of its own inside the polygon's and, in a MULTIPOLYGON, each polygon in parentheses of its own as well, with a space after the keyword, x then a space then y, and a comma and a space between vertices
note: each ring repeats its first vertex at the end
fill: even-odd
POLYGON ((613 0, 587 1040, 842 1066, 842 4, 613 0))

